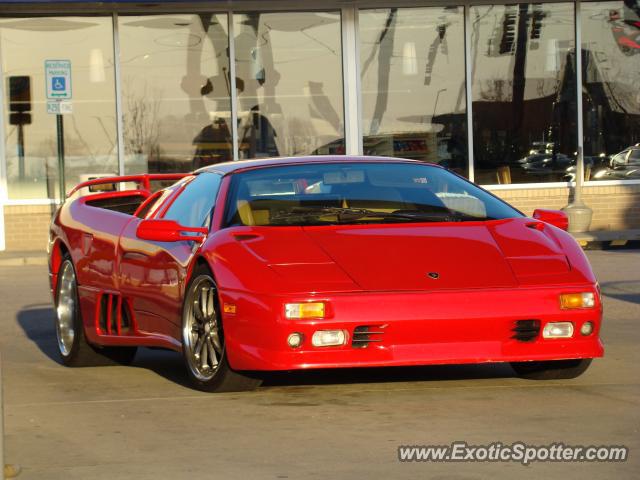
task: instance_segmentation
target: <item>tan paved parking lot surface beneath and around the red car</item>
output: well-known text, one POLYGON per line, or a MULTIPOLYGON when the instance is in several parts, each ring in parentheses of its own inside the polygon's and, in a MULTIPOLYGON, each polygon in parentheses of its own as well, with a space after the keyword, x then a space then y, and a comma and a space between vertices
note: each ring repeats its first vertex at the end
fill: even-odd
POLYGON ((189 389, 178 354, 131 367, 56 359, 45 267, 0 267, 5 459, 24 479, 640 478, 640 251, 588 252, 605 358, 576 380, 506 365, 277 375, 189 389), (398 445, 626 445, 624 463, 400 463, 398 445))

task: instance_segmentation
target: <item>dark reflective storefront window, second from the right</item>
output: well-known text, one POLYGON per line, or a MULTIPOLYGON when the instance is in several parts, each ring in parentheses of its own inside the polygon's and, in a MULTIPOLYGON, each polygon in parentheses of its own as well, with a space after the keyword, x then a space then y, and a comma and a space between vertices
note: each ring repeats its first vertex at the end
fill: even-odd
POLYGON ((483 5, 470 15, 475 181, 568 180, 577 148, 573 4, 483 5))

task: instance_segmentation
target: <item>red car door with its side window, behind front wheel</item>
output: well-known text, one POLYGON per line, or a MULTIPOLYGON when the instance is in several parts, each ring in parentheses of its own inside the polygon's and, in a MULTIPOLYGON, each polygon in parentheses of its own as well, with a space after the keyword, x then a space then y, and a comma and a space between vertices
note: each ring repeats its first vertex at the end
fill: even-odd
MULTIPOLYGON (((220 181, 216 173, 195 176, 174 194, 159 199, 161 204, 146 212, 147 218, 209 227, 220 181)), ((120 291, 139 334, 179 338, 187 271, 199 244, 142 240, 136 235, 141 217, 132 219, 120 236, 120 291)))

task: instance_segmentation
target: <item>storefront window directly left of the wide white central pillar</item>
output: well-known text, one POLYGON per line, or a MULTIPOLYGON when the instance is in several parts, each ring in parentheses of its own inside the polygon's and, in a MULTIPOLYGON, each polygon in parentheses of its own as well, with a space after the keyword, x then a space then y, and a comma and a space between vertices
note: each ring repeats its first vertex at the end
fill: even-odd
POLYGON ((240 158, 344 153, 340 13, 233 18, 240 158))

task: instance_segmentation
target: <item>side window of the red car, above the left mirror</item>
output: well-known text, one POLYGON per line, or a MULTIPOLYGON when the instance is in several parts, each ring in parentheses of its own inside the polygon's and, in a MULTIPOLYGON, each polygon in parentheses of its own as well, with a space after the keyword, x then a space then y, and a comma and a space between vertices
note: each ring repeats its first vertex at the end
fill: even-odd
POLYGON ((185 227, 208 225, 216 203, 222 177, 217 173, 203 172, 187 184, 164 215, 185 227))

